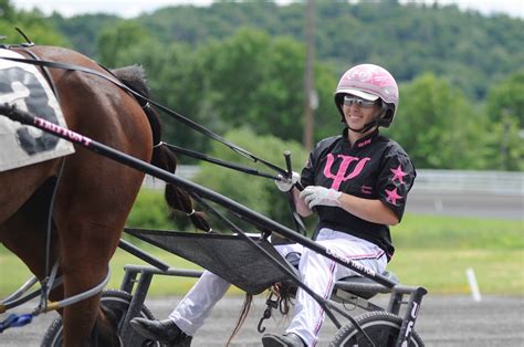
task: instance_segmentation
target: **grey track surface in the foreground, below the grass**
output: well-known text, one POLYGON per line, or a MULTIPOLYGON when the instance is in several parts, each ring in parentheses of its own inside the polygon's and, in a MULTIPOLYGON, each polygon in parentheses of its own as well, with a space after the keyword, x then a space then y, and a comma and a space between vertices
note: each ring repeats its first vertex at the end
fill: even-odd
MULTIPOLYGON (((158 318, 165 318, 179 297, 148 299, 146 305, 158 318)), ((264 306, 265 294, 254 298, 250 315, 231 346, 261 346, 256 325, 264 306)), ((243 297, 227 296, 217 304, 211 317, 193 339, 193 346, 226 346, 234 327, 243 297)), ((377 304, 386 305, 380 296, 377 304)), ((24 305, 19 313, 30 312, 24 305)), ((46 326, 56 316, 48 314, 36 317, 22 328, 12 328, 0 335, 0 346, 39 346, 46 326)), ((287 322, 280 314, 265 320, 268 333, 282 333, 287 322)), ((524 346, 524 296, 485 296, 474 302, 470 296, 432 296, 422 301, 416 330, 427 346, 524 346)), ((335 326, 326 320, 321 332, 318 346, 327 346, 335 335, 335 326)))

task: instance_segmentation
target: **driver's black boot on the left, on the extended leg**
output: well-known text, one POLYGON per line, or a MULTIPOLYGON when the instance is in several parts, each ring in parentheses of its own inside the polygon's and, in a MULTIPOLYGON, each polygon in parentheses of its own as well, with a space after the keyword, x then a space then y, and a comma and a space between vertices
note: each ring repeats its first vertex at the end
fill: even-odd
POLYGON ((171 319, 150 320, 137 317, 129 323, 138 334, 153 340, 169 346, 186 347, 191 345, 192 336, 184 333, 171 319))

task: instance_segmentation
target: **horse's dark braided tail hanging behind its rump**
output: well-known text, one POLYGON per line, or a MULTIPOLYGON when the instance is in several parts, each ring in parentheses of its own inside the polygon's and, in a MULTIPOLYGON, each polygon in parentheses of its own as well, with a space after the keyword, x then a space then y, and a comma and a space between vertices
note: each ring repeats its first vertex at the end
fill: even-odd
MULTIPOLYGON (((122 69, 112 70, 112 73, 122 81, 129 88, 134 90, 145 97, 149 97, 149 88, 147 87, 146 75, 144 69, 138 65, 126 66, 122 69)), ((151 164, 160 169, 169 172, 175 172, 177 169, 177 157, 164 144, 161 144, 161 122, 157 112, 150 107, 149 103, 140 97, 136 97, 144 112, 149 119, 153 132, 153 148, 151 164)), ((189 193, 175 185, 167 183, 165 190, 165 198, 168 206, 178 211, 185 212, 197 229, 209 231, 210 227, 206 220, 203 212, 195 211, 192 199, 189 193)))

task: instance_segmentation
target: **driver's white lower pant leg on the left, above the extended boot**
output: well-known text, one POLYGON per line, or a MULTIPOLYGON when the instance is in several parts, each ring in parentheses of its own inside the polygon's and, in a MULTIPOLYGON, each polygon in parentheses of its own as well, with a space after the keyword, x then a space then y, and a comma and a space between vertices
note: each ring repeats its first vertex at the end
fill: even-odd
POLYGON ((226 280, 205 271, 177 308, 171 312, 169 318, 184 333, 193 336, 230 286, 231 284, 226 280))

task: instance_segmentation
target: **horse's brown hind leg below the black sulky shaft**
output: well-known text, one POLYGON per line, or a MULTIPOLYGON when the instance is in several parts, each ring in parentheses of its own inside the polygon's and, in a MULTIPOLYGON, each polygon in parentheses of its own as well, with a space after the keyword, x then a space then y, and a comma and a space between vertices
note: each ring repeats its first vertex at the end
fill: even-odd
MULTIPOLYGON (((142 174, 108 160, 104 166, 113 167, 114 175, 104 176, 103 180, 94 179, 98 174, 82 166, 78 169, 83 172, 70 172, 67 177, 75 177, 75 188, 64 186, 61 191, 72 193, 62 193, 57 200, 57 207, 63 207, 56 213, 56 224, 66 296, 84 292, 104 280, 107 264, 142 185, 142 174)), ((98 305, 99 296, 95 296, 64 309, 66 346, 76 346, 78 341, 86 340, 95 319, 105 319, 98 305)), ((103 344, 111 346, 114 343, 103 344)))

